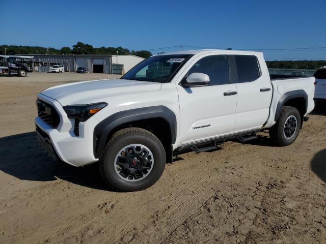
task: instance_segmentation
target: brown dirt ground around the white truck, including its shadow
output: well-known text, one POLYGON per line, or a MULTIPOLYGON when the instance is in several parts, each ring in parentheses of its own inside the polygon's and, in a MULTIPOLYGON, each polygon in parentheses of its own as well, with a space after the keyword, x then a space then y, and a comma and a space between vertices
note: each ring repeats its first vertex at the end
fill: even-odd
POLYGON ((105 74, 0 77, 0 243, 326 243, 326 107, 287 147, 268 133, 167 164, 151 188, 108 190, 97 165, 50 160, 35 99, 105 74))

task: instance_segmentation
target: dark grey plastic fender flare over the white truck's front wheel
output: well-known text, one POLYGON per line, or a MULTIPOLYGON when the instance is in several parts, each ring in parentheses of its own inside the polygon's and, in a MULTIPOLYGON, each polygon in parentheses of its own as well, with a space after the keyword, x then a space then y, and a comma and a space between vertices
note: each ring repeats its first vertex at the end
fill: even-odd
POLYGON ((166 106, 135 108, 114 113, 95 126, 93 134, 95 158, 99 158, 102 155, 106 139, 110 132, 116 127, 125 123, 149 118, 163 118, 168 121, 171 130, 171 144, 174 144, 177 135, 177 118, 172 110, 166 106))

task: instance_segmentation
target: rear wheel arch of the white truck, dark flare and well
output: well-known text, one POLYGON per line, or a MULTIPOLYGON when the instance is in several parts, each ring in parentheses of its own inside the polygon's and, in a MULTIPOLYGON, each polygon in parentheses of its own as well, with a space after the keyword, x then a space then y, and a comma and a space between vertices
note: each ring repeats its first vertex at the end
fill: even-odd
POLYGON ((277 121, 280 117, 283 106, 295 107, 303 118, 304 114, 307 113, 308 95, 302 89, 292 90, 291 92, 284 93, 277 104, 274 118, 275 121, 277 121))

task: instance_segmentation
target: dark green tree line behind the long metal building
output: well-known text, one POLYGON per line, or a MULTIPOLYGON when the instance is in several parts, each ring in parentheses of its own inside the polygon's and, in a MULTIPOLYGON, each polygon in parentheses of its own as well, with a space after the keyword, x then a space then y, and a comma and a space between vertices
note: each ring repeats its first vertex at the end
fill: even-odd
POLYGON ((77 44, 70 47, 62 47, 56 49, 53 47, 39 47, 39 46, 15 46, 15 45, 0 45, 0 54, 5 54, 5 48, 7 55, 18 55, 18 54, 57 54, 57 55, 68 55, 68 54, 93 54, 93 55, 112 55, 112 54, 132 54, 140 57, 150 57, 151 52, 146 50, 129 50, 123 47, 93 47, 92 45, 85 44, 83 42, 77 42, 77 44), (48 52, 48 53, 47 53, 48 52))

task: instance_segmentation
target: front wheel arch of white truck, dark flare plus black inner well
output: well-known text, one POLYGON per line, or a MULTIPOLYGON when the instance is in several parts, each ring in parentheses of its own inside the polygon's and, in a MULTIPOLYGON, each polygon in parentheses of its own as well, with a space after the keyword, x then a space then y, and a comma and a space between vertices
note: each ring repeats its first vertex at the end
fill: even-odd
POLYGON ((96 125, 93 133, 95 158, 102 155, 103 148, 115 132, 127 127, 139 127, 153 132, 164 144, 167 160, 170 161, 170 154, 172 158, 172 144, 176 141, 177 122, 174 112, 166 106, 151 106, 120 111, 103 119, 96 125))

